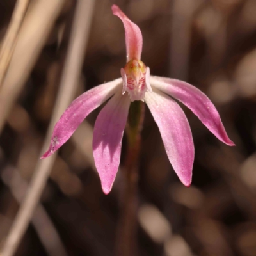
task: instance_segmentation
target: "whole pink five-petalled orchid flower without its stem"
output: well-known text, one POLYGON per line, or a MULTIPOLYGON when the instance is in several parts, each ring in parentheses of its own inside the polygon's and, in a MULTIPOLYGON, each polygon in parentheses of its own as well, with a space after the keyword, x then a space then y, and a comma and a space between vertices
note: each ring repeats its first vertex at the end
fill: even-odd
POLYGON ((198 116, 202 123, 223 143, 228 138, 218 111, 211 100, 195 86, 166 77, 150 76, 141 59, 140 28, 118 8, 112 6, 125 28, 127 63, 122 78, 101 84, 83 93, 63 113, 54 127, 51 145, 42 158, 51 156, 72 136, 84 118, 102 103, 93 131, 93 156, 104 193, 111 191, 120 164, 120 153, 129 107, 134 100, 145 101, 161 133, 166 154, 180 181, 191 184, 194 145, 188 120, 175 100, 198 116))

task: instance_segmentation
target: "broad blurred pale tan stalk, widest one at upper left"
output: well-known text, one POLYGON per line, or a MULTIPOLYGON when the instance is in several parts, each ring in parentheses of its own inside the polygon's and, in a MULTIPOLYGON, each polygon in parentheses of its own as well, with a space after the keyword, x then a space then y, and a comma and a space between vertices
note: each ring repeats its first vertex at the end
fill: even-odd
POLYGON ((29 4, 0 90, 0 132, 28 80, 63 4, 65 0, 36 0, 29 4))

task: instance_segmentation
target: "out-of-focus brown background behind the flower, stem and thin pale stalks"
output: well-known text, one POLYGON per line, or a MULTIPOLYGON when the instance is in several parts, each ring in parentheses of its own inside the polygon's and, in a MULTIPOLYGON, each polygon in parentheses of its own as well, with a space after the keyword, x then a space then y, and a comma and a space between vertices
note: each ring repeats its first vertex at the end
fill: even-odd
MULTIPOLYGON (((28 2, 0 91, 0 246, 42 154, 76 19, 77 1, 28 2)), ((15 4, 0 1, 2 45, 15 4)), ((138 255, 255 256, 256 1, 95 1, 94 9, 84 10, 91 13, 92 22, 74 97, 120 77, 125 65, 124 27, 112 15, 112 4, 140 27, 142 60, 151 74, 185 80, 206 93, 236 143, 221 143, 182 106, 195 143, 193 182, 186 188, 168 161, 146 107, 138 255)), ((104 195, 92 158, 99 111, 93 111, 58 152, 15 255, 114 255, 122 170, 113 191, 104 195)), ((125 149, 121 168, 124 155, 125 149)))

